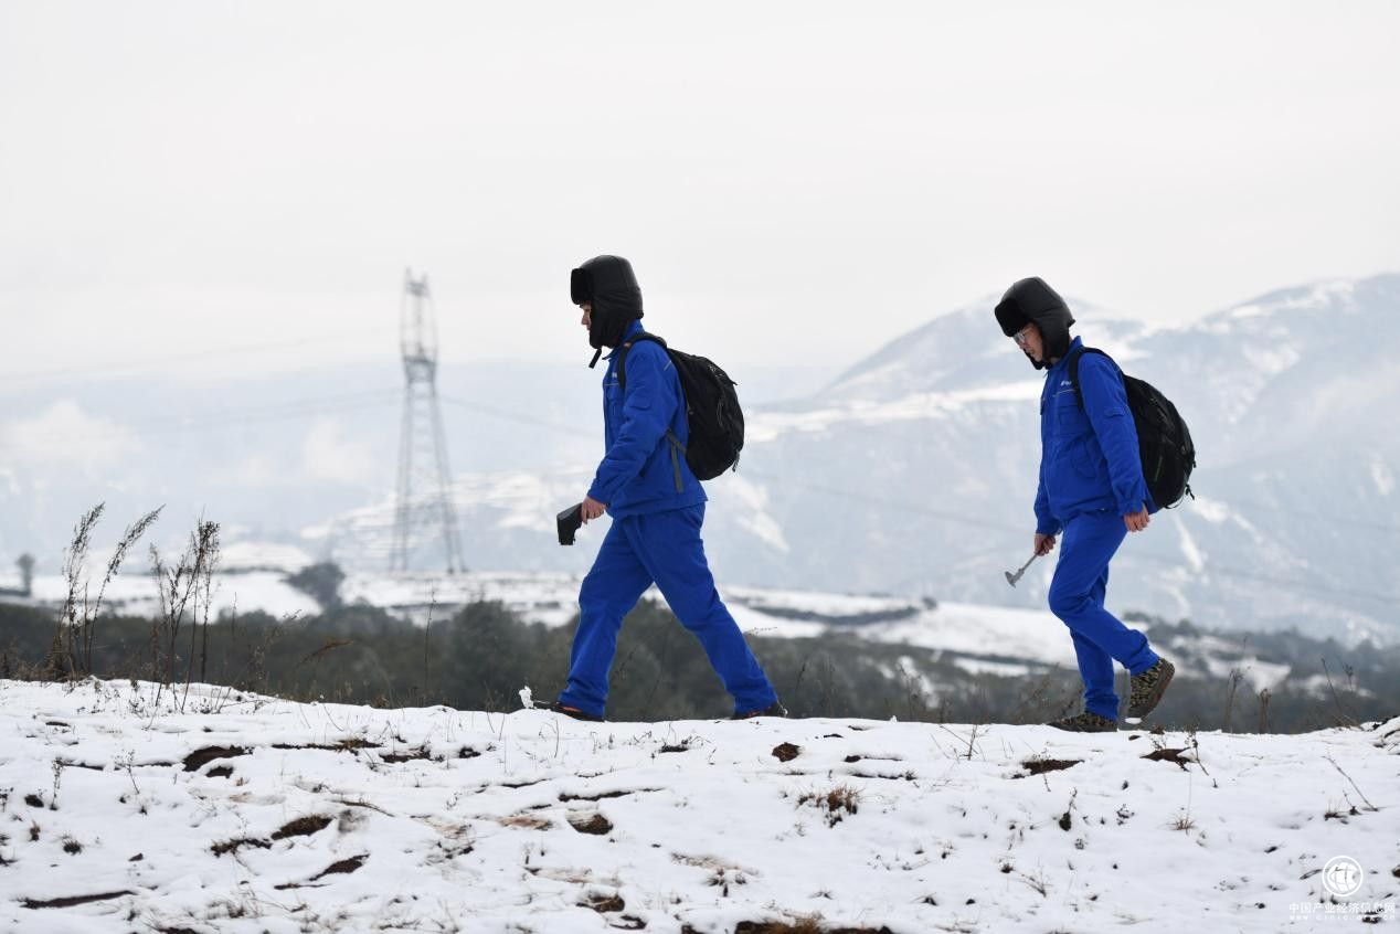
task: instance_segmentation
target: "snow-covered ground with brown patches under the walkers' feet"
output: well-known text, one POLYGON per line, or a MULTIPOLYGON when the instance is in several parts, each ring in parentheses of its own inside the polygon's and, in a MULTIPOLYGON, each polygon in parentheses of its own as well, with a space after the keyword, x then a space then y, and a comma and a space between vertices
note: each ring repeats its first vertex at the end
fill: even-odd
POLYGON ((1400 717, 582 724, 0 681, 0 931, 1393 924, 1397 766, 1400 717))

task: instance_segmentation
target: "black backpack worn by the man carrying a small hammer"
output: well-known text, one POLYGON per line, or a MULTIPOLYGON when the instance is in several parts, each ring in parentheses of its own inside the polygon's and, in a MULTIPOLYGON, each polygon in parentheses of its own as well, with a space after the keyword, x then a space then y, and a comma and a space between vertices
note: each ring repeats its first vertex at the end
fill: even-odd
POLYGON ((1151 382, 1123 372, 1109 354, 1096 347, 1085 347, 1070 357, 1070 382, 1074 384, 1074 396, 1079 400, 1081 409, 1084 409, 1084 391, 1079 388, 1079 357, 1086 353, 1107 357, 1123 377, 1128 410, 1133 413, 1133 424, 1137 426, 1142 479, 1147 480, 1152 501, 1169 510, 1184 496, 1194 500, 1190 479, 1196 466, 1196 445, 1191 444, 1191 433, 1176 406, 1151 382))

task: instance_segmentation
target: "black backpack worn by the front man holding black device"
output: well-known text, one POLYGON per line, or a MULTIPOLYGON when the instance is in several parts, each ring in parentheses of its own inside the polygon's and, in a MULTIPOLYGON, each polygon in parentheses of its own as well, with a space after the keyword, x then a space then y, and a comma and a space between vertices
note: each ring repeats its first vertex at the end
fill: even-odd
MULTIPOLYGON (((699 480, 713 480, 728 469, 738 469, 739 451, 743 449, 743 410, 739 407, 739 393, 734 391, 736 384, 729 374, 706 357, 666 347, 666 342, 657 335, 640 333, 620 347, 617 384, 623 392, 627 391, 627 353, 638 340, 654 340, 661 344, 680 374, 690 444, 682 445, 673 433, 666 434, 671 442, 685 452, 690 472, 699 480)), ((678 472, 678 489, 679 483, 678 472)))

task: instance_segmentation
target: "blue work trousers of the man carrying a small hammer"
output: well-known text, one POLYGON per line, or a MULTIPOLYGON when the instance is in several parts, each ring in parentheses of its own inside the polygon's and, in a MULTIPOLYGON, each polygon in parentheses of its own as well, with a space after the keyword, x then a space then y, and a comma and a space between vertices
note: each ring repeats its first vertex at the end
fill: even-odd
POLYGON ((1085 513, 1070 520, 1060 539, 1060 560, 1050 581, 1050 612, 1074 637, 1074 653, 1084 679, 1084 709, 1119 718, 1113 692, 1113 662, 1141 675, 1156 664, 1147 636, 1124 626, 1103 609, 1109 587, 1109 562, 1123 543, 1127 527, 1113 510, 1085 513))

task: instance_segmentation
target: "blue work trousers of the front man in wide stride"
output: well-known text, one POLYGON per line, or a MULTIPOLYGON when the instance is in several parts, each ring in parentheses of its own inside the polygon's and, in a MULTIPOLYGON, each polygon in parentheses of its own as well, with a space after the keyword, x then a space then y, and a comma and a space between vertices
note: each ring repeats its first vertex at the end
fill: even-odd
POLYGON ((578 630, 570 654, 568 688, 560 703, 603 716, 608 672, 617 630, 652 583, 714 667, 736 713, 777 700, 773 685, 714 588, 700 525, 704 504, 613 520, 578 592, 578 630))

